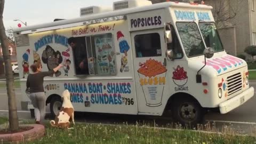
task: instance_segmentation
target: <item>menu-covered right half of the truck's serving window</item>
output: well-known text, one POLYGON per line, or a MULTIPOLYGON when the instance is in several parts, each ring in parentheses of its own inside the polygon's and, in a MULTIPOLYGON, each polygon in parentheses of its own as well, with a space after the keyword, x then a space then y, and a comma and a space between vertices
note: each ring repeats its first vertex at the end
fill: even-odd
POLYGON ((91 75, 115 75, 115 47, 112 34, 86 37, 91 75))

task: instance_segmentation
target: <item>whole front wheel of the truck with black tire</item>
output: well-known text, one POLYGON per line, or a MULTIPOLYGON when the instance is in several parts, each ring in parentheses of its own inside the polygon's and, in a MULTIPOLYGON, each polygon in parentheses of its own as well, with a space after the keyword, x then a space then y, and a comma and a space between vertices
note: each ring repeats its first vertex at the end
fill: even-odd
POLYGON ((172 112, 175 121, 183 126, 195 127, 204 119, 203 109, 197 101, 191 98, 175 99, 172 112))

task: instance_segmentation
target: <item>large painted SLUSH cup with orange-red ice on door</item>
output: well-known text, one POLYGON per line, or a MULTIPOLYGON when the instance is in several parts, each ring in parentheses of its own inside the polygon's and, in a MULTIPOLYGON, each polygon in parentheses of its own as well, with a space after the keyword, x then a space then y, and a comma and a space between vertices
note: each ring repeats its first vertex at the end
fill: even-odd
POLYGON ((141 85, 146 105, 149 107, 161 106, 167 69, 161 62, 154 59, 139 63, 139 67, 140 81, 147 81, 141 85))

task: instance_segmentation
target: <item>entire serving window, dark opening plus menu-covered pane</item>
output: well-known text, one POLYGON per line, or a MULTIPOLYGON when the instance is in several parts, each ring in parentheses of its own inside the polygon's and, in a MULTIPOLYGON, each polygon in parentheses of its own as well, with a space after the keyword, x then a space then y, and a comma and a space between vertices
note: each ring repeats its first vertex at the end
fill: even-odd
MULTIPOLYGON (((70 37, 68 43, 73 49, 76 75, 116 74, 112 34, 70 37)), ((70 60, 66 63, 70 65, 70 60)))

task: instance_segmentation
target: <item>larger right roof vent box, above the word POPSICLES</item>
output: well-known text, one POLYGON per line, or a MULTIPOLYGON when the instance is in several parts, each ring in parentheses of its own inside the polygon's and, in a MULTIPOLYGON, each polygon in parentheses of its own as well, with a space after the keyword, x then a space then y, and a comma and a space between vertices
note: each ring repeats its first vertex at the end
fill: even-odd
POLYGON ((125 0, 125 1, 114 2, 113 9, 114 11, 116 11, 116 10, 146 6, 151 4, 152 2, 148 0, 125 0))

